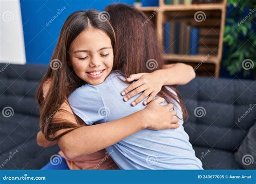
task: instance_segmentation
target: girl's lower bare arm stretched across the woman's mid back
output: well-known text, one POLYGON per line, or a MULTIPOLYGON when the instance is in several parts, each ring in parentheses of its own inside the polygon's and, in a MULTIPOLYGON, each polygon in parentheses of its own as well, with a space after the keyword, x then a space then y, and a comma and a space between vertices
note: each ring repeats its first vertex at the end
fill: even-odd
MULTIPOLYGON (((74 159, 109 147, 142 129, 163 130, 178 128, 179 119, 173 118, 177 113, 176 111, 170 111, 173 105, 160 105, 162 102, 164 102, 164 98, 157 98, 147 105, 145 109, 130 116, 108 123, 75 129, 60 137, 57 143, 68 159, 74 159)), ((60 109, 62 110, 59 110, 53 118, 68 119, 70 123, 77 123, 77 120, 82 121, 82 119, 75 117, 68 101, 65 101, 60 106, 60 109)), ((58 136, 66 130, 69 129, 59 130, 54 136, 58 136)), ((41 132, 38 133, 37 137, 38 144, 41 145, 53 145, 56 143, 49 143, 44 136, 41 136, 41 132)))

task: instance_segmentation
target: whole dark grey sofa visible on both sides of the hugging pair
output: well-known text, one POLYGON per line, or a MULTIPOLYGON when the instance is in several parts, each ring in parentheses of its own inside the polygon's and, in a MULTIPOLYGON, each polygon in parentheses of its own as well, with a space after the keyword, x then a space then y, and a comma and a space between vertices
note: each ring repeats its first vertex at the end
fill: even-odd
MULTIPOLYGON (((39 169, 59 150, 36 143, 35 91, 45 71, 41 65, 0 64, 0 169, 39 169)), ((256 103, 255 81, 196 77, 178 88, 190 115, 184 127, 203 167, 241 169, 234 152, 255 123, 256 108, 239 117, 256 103)))

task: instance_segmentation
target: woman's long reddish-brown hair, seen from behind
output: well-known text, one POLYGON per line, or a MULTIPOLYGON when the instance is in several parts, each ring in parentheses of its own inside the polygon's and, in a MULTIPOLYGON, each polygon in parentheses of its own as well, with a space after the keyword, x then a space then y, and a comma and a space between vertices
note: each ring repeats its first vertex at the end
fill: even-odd
MULTIPOLYGON (((121 70, 128 77, 163 68, 163 48, 152 21, 147 21, 148 17, 143 12, 125 4, 111 4, 105 11, 110 15, 117 38, 113 70, 121 70)), ((169 87, 177 93, 177 97, 166 87, 161 88, 158 96, 165 98, 168 103, 176 101, 183 111, 183 118, 187 119, 188 113, 179 91, 174 86, 169 87)))

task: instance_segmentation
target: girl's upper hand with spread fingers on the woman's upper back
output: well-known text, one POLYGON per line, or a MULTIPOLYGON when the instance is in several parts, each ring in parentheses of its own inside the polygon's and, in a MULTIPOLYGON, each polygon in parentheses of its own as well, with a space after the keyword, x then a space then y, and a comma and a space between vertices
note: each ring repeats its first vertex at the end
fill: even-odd
POLYGON ((165 78, 161 73, 161 70, 156 70, 152 73, 139 73, 130 75, 126 81, 132 82, 134 80, 138 80, 133 82, 129 87, 125 88, 122 91, 122 95, 126 95, 124 97, 124 101, 129 101, 133 96, 143 92, 136 100, 134 100, 131 105, 135 106, 139 102, 143 101, 147 96, 147 100, 143 102, 144 105, 150 103, 153 98, 159 93, 161 87, 164 86, 165 78))

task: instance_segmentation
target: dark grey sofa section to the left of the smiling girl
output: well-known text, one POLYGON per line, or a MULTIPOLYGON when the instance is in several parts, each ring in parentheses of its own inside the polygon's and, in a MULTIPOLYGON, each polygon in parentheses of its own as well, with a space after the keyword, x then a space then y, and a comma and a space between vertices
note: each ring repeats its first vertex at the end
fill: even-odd
POLYGON ((0 64, 0 169, 40 169, 58 146, 39 147, 35 93, 46 66, 0 64))

